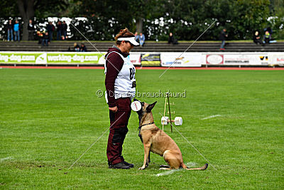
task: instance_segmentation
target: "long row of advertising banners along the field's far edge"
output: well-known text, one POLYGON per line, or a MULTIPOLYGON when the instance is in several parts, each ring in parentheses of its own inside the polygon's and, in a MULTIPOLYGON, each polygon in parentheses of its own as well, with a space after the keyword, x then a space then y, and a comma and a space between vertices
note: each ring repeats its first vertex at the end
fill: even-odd
MULTIPOLYGON (((103 65, 103 53, 87 52, 0 52, 1 64, 103 65)), ((133 65, 162 67, 201 67, 202 65, 284 65, 284 52, 141 52, 131 53, 133 65)))

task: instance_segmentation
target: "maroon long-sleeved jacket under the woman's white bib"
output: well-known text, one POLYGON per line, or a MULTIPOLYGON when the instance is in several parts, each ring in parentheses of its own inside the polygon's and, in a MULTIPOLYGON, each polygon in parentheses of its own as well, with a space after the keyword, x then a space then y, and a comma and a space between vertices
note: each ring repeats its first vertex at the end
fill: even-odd
POLYGON ((119 48, 117 48, 116 46, 112 46, 111 48, 109 48, 105 56, 107 58, 107 74, 104 84, 106 85, 107 90, 107 100, 109 100, 109 107, 115 107, 116 104, 114 98, 114 82, 116 80, 117 75, 119 74, 119 71, 124 65, 124 60, 117 53, 109 54, 109 52, 111 51, 119 52, 122 56, 124 56, 124 58, 129 56, 129 53, 122 53, 119 48))

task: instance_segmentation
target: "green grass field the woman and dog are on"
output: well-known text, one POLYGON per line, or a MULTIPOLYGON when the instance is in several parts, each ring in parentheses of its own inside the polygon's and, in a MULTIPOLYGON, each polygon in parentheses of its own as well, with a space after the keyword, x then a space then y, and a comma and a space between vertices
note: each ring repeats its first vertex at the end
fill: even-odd
MULTIPOLYGON (((283 189, 284 71, 136 70, 139 93, 183 93, 172 97, 176 127, 211 165, 205 171, 159 170, 163 157, 151 154, 141 171, 143 144, 132 112, 124 157, 135 166, 108 169, 105 133, 109 128, 103 70, 0 70, 0 189, 283 189), (220 115, 204 119, 212 115, 220 115), (160 174, 160 176, 157 176, 160 174)), ((158 127, 165 97, 153 116, 158 127)), ((207 161, 178 132, 170 137, 185 164, 207 161)))

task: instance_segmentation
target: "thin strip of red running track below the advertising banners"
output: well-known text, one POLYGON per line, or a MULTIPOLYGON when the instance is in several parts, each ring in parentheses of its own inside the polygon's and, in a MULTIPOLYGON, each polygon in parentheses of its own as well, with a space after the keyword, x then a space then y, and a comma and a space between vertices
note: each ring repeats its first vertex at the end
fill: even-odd
MULTIPOLYGON (((75 67, 75 66, 1 66, 0 68, 48 68, 48 69, 104 69, 104 67, 75 67)), ((136 69, 145 70, 166 70, 166 67, 136 67, 136 69)), ((209 67, 209 68, 169 68, 170 70, 284 70, 284 68, 220 68, 220 67, 209 67)))

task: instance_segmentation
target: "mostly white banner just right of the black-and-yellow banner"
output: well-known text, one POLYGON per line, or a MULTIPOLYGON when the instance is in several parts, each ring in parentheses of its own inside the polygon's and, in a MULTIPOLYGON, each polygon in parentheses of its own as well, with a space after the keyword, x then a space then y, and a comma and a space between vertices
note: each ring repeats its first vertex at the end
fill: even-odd
POLYGON ((163 67, 201 67, 202 53, 160 53, 163 67))

